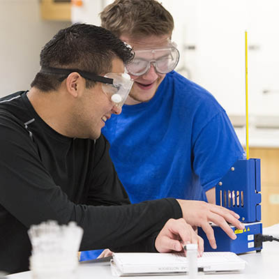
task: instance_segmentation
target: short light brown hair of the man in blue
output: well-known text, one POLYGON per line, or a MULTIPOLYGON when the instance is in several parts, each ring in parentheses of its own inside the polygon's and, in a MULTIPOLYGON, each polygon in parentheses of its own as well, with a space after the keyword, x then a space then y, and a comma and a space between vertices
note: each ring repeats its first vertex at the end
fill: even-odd
POLYGON ((121 36, 171 35, 172 15, 156 0, 115 0, 100 13, 101 26, 121 36))

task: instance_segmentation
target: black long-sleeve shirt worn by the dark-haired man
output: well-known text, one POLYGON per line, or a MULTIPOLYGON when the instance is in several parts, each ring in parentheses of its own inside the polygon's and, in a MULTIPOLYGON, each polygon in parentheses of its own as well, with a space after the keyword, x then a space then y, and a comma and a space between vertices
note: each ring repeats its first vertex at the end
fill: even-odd
POLYGON ((0 99, 0 270, 29 269, 30 225, 45 220, 84 229, 80 250, 154 251, 175 199, 130 204, 103 135, 65 137, 36 114, 27 92, 0 99))

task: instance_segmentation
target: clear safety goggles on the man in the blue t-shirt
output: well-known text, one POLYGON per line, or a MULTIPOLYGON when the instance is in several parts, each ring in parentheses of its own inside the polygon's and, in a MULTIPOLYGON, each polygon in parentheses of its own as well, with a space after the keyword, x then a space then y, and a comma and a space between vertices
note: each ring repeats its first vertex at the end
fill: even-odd
POLYGON ((144 75, 149 71, 151 64, 157 73, 167 74, 179 63, 179 50, 176 48, 176 43, 169 42, 165 47, 134 50, 134 52, 134 59, 126 65, 130 75, 144 75))

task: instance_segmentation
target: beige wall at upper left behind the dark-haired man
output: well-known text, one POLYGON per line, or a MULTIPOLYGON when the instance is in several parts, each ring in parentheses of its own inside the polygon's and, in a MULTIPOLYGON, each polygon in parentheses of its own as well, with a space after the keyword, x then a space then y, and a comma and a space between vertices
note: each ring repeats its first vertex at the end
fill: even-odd
POLYGON ((0 0, 0 96, 29 89, 40 50, 70 22, 43 22, 38 0, 0 0))

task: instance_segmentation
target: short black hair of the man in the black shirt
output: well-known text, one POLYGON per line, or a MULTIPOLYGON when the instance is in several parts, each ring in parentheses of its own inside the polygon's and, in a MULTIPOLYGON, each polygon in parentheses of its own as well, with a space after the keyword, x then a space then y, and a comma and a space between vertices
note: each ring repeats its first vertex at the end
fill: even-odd
MULTIPOLYGON (((75 68, 96 75, 109 73, 112 60, 123 63, 133 59, 133 52, 114 34, 91 24, 73 24, 61 29, 40 52, 40 66, 47 68, 75 68)), ((37 73, 31 86, 41 91, 56 90, 66 76, 37 73)), ((86 80, 86 87, 96 82, 86 80)))

